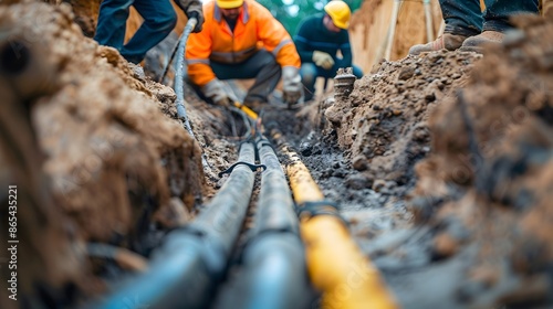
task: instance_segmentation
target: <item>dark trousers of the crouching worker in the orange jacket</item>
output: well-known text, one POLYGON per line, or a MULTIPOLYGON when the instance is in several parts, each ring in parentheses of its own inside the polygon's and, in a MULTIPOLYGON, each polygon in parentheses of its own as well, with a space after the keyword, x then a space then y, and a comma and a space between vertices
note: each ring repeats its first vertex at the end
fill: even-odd
POLYGON ((267 103, 281 76, 280 65, 273 54, 264 50, 240 64, 211 62, 211 68, 219 79, 255 78, 255 83, 248 89, 244 104, 267 103))

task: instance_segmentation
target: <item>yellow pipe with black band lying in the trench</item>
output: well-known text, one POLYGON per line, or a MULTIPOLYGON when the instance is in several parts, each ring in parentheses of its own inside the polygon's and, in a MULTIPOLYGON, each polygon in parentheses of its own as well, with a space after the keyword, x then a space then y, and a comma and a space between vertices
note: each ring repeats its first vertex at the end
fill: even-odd
MULTIPOLYGON (((280 134, 273 135, 273 138, 280 138, 280 134)), ((298 153, 286 146, 281 150, 289 159, 286 172, 295 202, 301 205, 324 201, 323 193, 298 153)), ((323 292, 321 308, 398 308, 378 270, 357 248, 342 220, 327 214, 302 216, 300 231, 305 244, 309 275, 315 288, 323 292)))

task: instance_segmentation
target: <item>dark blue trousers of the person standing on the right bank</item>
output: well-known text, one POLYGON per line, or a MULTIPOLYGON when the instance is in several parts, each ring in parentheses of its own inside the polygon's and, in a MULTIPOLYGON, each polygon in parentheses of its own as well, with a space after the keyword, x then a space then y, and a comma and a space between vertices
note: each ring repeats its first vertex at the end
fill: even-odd
POLYGON ((479 0, 440 0, 447 33, 477 35, 482 31, 504 32, 511 28, 509 17, 538 13, 539 0, 484 0, 486 11, 479 0))

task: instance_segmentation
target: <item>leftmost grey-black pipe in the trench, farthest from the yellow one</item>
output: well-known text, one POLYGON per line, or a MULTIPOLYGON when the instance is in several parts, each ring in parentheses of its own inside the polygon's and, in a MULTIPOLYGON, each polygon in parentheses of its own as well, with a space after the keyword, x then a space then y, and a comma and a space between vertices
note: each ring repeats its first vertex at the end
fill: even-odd
MULTIPOLYGON (((254 162, 252 143, 242 143, 239 162, 254 162)), ((147 273, 91 308, 206 308, 242 227, 253 180, 249 166, 236 166, 206 210, 154 251, 147 273)))

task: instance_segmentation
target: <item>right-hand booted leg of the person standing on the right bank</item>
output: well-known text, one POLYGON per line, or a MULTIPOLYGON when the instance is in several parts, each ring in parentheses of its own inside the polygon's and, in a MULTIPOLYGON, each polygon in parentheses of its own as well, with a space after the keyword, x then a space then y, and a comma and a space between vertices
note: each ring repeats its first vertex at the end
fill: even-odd
POLYGON ((482 53, 487 44, 499 44, 504 32, 512 28, 509 18, 520 13, 539 13, 538 0, 486 0, 483 32, 467 39, 462 51, 482 53))

